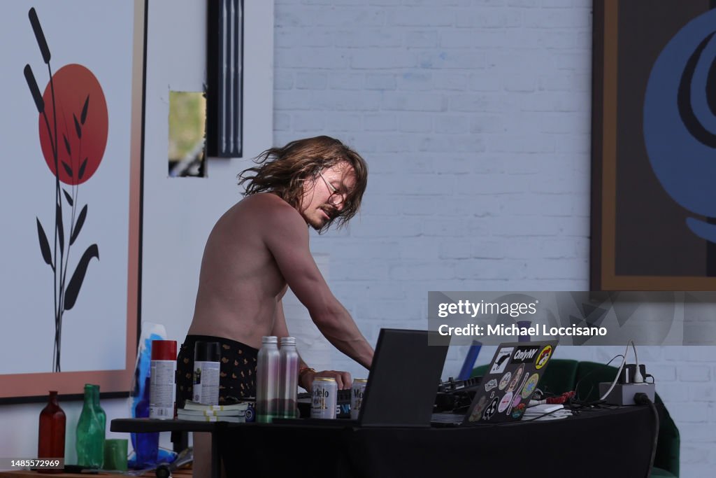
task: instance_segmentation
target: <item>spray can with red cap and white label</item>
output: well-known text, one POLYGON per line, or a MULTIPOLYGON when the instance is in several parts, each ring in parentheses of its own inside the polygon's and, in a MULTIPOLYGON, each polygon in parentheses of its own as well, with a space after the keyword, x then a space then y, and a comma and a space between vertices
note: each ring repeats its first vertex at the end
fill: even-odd
POLYGON ((176 412, 176 340, 152 340, 149 388, 149 418, 173 419, 176 412))

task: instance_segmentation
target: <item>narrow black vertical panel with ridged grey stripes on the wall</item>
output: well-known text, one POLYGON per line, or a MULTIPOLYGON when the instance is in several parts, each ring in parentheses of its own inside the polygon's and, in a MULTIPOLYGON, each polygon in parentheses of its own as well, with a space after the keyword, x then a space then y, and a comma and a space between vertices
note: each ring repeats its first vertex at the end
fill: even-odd
POLYGON ((209 0, 206 52, 206 155, 242 151, 243 0, 209 0))

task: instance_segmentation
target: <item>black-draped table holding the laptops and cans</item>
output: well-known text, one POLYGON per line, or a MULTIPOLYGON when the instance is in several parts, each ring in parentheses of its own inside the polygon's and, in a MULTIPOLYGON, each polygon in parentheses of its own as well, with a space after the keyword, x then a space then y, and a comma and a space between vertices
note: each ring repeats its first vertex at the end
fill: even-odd
POLYGON ((112 420, 112 431, 210 431, 212 474, 228 477, 641 478, 653 441, 648 407, 582 411, 569 419, 441 428, 361 428, 332 421, 228 424, 112 420))

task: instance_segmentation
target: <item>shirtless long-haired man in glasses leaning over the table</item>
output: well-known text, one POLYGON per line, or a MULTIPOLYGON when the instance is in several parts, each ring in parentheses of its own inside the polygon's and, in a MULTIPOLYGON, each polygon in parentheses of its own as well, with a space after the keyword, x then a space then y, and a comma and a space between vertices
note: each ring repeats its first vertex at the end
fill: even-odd
MULTIPOLYGON (((239 174, 247 197, 221 216, 206 242, 194 317, 177 358, 178 406, 191 397, 197 340, 221 343, 220 403, 256 396, 261 337, 289 335, 281 304, 286 287, 338 350, 365 368, 373 360, 372 347, 316 267, 307 228, 323 232, 357 213, 366 163, 327 136, 271 148, 256 163, 239 174)), ((339 388, 351 386, 349 373, 316 372, 301 360, 299 386, 310 391, 321 376, 335 378, 339 388)), ((208 476, 208 439, 194 436, 195 477, 208 476)))

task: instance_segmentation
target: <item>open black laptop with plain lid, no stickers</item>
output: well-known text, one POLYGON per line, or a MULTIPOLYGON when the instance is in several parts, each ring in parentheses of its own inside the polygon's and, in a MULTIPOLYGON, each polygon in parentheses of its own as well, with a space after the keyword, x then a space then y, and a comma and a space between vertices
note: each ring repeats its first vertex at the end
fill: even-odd
POLYGON ((381 329, 357 420, 274 419, 274 423, 430 427, 448 353, 445 339, 434 331, 381 329))

